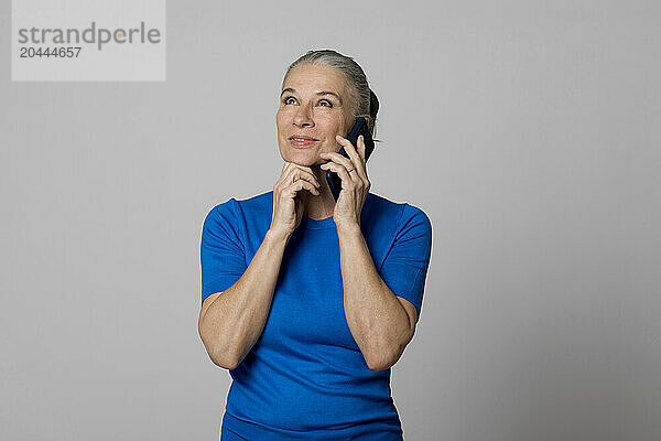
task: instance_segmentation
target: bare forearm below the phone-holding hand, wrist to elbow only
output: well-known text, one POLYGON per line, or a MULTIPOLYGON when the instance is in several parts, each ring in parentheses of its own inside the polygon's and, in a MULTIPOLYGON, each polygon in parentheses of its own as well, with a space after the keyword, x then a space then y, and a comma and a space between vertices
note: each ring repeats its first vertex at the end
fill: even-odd
POLYGON ((409 343, 409 315, 377 272, 360 227, 337 233, 347 323, 368 366, 386 369, 409 343))

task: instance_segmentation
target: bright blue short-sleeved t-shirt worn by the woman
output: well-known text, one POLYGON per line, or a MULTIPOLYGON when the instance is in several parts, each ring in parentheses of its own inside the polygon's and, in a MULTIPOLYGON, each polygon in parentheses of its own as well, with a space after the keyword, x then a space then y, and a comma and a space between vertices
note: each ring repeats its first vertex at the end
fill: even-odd
MULTIPOLYGON (((273 192, 216 205, 202 233, 202 300, 246 271, 271 225, 273 192)), ((432 226, 418 207, 368 193, 360 228, 375 268, 420 314, 432 226)), ((344 311, 333 217, 303 216, 288 243, 264 330, 232 378, 221 441, 401 440, 391 369, 373 372, 344 311)))

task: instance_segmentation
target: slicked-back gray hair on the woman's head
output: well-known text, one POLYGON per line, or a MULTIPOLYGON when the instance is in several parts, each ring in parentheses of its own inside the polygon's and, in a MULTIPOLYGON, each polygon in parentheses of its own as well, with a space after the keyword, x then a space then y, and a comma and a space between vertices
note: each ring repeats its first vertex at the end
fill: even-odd
POLYGON ((282 87, 284 87, 284 82, 290 72, 294 67, 305 63, 333 67, 344 74, 349 86, 354 118, 369 117, 368 128, 373 138, 377 112, 379 111, 379 100, 372 89, 369 88, 362 67, 360 67, 350 56, 343 55, 332 50, 307 51, 305 55, 302 55, 289 66, 284 74, 284 78, 282 79, 282 87))

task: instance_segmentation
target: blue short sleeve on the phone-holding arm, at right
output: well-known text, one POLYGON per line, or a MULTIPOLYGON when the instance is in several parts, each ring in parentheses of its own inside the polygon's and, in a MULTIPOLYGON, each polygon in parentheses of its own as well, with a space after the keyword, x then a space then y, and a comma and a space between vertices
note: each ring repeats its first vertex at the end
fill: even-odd
POLYGON ((380 276, 395 295, 413 303, 419 318, 431 254, 430 218, 422 209, 404 204, 394 243, 381 266, 380 276))

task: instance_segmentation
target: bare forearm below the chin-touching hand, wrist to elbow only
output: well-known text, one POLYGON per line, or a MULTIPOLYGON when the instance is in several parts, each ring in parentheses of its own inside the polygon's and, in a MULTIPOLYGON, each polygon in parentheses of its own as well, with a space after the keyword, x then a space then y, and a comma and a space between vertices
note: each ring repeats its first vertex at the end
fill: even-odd
POLYGON ((243 275, 202 316, 199 335, 214 363, 235 368, 259 340, 288 239, 280 233, 267 232, 243 275))

